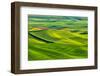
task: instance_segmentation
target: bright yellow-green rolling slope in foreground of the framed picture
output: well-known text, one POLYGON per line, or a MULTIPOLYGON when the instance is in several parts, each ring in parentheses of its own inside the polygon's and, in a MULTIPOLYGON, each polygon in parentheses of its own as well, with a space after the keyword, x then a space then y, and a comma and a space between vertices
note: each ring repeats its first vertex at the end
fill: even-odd
POLYGON ((29 38, 29 60, 75 59, 87 57, 87 40, 76 33, 63 30, 44 30, 32 32, 33 35, 46 40, 45 43, 32 37, 29 38), (55 35, 56 34, 56 35, 55 35), (82 42, 81 40, 85 40, 82 42))

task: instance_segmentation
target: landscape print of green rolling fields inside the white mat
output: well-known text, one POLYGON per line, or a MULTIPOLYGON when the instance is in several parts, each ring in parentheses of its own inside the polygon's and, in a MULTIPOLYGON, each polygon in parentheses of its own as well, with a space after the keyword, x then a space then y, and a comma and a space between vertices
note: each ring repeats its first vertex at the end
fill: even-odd
POLYGON ((88 18, 28 15, 28 60, 88 57, 88 18))

